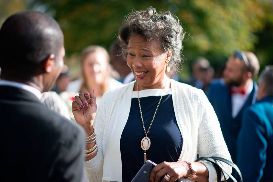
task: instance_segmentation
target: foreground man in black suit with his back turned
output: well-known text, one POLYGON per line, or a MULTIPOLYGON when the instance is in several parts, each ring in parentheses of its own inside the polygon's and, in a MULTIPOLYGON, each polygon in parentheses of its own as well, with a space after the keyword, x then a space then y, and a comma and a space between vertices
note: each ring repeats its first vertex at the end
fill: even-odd
POLYGON ((84 132, 40 102, 63 67, 63 33, 36 11, 0 30, 1 181, 80 181, 84 132))

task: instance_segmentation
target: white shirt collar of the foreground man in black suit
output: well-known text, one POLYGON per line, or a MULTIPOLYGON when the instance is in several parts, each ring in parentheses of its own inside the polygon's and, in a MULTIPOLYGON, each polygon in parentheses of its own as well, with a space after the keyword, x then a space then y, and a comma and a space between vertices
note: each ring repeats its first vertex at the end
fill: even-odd
POLYGON ((41 100, 41 98, 42 98, 42 94, 41 94, 40 90, 38 90, 37 88, 34 88, 33 86, 29 86, 27 84, 24 84, 24 83, 13 82, 13 81, 8 81, 8 80, 2 79, 2 80, 0 80, 0 86, 12 86, 12 87, 16 87, 16 88, 21 88, 21 89, 24 89, 28 92, 31 92, 39 100, 41 100))

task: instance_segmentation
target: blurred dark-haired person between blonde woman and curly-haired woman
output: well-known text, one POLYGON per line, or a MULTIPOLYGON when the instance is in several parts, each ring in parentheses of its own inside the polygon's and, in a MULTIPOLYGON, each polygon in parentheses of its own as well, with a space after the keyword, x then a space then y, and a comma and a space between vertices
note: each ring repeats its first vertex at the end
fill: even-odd
POLYGON ((118 44, 118 40, 115 40, 110 46, 110 64, 119 73, 119 81, 123 84, 130 83, 135 80, 135 77, 127 65, 126 60, 123 59, 121 54, 121 47, 118 44))

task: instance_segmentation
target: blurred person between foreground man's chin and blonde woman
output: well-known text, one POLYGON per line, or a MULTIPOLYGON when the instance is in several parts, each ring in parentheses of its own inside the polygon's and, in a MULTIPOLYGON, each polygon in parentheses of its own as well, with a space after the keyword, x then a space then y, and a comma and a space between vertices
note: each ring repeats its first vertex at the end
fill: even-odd
POLYGON ((66 91, 68 84, 71 82, 71 77, 69 74, 68 66, 63 65, 63 70, 60 76, 57 78, 52 91, 56 92, 57 94, 66 91))

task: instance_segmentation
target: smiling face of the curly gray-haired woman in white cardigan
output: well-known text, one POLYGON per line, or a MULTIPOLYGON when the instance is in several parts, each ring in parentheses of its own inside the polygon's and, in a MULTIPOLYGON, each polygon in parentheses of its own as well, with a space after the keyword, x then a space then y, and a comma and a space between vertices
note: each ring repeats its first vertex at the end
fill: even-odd
MULTIPOLYGON (((166 61, 169 59, 157 40, 146 41, 137 35, 130 37, 127 64, 141 89, 162 88, 166 76, 166 61)), ((164 85, 165 82, 163 87, 164 85)))

